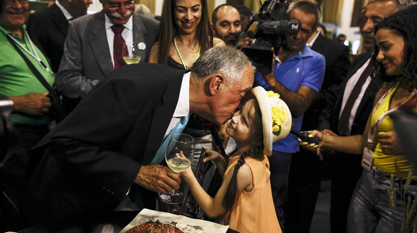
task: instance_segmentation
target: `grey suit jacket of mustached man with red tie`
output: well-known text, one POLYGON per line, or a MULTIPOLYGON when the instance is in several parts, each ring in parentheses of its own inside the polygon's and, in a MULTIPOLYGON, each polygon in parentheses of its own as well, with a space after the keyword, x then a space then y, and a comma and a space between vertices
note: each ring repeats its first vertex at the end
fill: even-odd
MULTIPOLYGON (((158 21, 133 14, 133 40, 142 42, 140 62, 146 62, 158 31, 158 21)), ((69 98, 82 98, 111 71, 113 64, 107 42, 104 12, 74 19, 68 29, 64 55, 55 84, 69 98)))

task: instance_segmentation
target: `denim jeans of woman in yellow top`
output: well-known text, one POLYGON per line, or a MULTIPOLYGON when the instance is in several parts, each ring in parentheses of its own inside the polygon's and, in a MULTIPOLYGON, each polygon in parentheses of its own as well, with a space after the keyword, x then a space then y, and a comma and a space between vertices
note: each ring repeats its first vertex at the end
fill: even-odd
MULTIPOLYGON (((390 208, 387 190, 391 189, 390 176, 375 168, 370 172, 363 170, 350 202, 348 213, 348 233, 392 233, 394 217, 390 208)), ((400 232, 403 221, 403 208, 400 188, 404 188, 405 179, 395 178, 396 208, 395 224, 400 232)), ((416 197, 417 182, 412 181, 407 193, 416 197)))

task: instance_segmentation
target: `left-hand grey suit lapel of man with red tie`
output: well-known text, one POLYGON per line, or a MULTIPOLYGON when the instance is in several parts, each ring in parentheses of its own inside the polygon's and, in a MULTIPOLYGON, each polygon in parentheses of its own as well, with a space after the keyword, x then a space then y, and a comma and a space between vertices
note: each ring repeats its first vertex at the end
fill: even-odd
MULTIPOLYGON (((110 48, 107 42, 107 34, 105 28, 104 12, 100 11, 94 16, 94 23, 89 24, 91 34, 93 35, 90 40, 90 46, 93 50, 94 56, 100 66, 104 76, 109 74, 114 68, 112 63, 112 57, 110 56, 110 48)), ((86 30, 88 31, 88 30, 86 30)))

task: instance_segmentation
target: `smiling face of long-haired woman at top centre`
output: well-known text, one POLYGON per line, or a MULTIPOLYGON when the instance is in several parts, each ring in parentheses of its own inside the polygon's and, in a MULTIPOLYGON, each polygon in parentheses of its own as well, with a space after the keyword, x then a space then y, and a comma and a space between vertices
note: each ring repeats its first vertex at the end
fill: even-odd
POLYGON ((202 7, 201 0, 175 0, 174 18, 180 32, 191 34, 197 31, 202 7))

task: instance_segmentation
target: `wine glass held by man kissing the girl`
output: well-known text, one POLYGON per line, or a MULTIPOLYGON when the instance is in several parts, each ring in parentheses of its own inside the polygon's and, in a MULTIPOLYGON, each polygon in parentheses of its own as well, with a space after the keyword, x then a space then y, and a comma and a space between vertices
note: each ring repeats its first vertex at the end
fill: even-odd
MULTIPOLYGON (((165 151, 168 167, 174 172, 183 172, 191 166, 194 158, 194 139, 186 134, 174 134, 165 151)), ((168 193, 159 193, 162 201, 180 204, 184 200, 182 192, 172 189, 168 193)))

